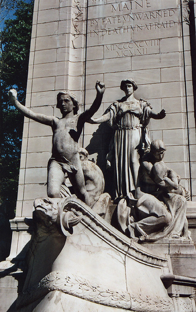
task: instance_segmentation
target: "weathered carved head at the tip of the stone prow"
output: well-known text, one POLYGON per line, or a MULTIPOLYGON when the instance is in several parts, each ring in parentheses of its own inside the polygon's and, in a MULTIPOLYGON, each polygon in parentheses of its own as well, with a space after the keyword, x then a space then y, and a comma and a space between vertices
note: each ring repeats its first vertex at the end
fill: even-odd
POLYGON ((48 218, 51 221, 55 221, 58 215, 59 200, 60 198, 36 198, 34 201, 35 211, 40 211, 43 218, 48 218))

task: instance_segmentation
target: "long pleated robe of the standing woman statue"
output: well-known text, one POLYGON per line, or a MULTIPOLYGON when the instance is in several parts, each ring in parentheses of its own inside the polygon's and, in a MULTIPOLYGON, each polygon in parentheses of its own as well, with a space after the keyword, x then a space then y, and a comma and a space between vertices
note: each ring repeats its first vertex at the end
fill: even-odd
MULTIPOLYGON (((126 103, 123 98, 111 104, 109 125, 115 129, 115 196, 126 196, 136 189, 139 156, 150 147, 148 123, 152 107, 145 100, 126 103)), ((111 153, 111 151, 110 151, 111 153)))

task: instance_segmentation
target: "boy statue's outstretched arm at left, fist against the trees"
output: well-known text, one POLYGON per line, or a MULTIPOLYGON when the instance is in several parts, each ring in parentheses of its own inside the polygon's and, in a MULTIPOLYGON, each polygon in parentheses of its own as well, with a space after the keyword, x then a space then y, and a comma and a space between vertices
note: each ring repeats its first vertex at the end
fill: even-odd
POLYGON ((20 104, 20 102, 17 100, 17 91, 15 89, 10 90, 8 95, 9 95, 9 99, 10 99, 11 103, 25 117, 31 118, 31 119, 33 119, 35 121, 38 121, 38 122, 43 123, 43 124, 48 125, 48 126, 52 126, 54 117, 53 116, 46 116, 46 115, 39 114, 39 113, 34 113, 29 108, 27 108, 27 107, 23 106, 22 104, 20 104))

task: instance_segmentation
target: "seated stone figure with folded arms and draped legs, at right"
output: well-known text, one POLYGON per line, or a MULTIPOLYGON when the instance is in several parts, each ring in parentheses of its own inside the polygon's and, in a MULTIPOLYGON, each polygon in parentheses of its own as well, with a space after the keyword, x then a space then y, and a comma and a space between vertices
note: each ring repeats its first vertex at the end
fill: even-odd
POLYGON ((130 194, 118 204, 118 223, 131 238, 153 242, 163 237, 188 239, 186 219, 190 193, 179 184, 180 177, 163 162, 165 145, 151 143, 140 164, 135 198, 130 194))

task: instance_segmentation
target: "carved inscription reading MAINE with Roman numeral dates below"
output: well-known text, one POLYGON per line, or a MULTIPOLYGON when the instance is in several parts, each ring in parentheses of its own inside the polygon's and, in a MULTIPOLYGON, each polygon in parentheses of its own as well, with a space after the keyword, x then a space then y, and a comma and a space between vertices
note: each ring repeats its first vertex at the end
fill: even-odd
POLYGON ((91 2, 88 38, 104 45, 107 58, 158 53, 160 31, 177 27, 177 9, 156 10, 153 0, 91 2))

